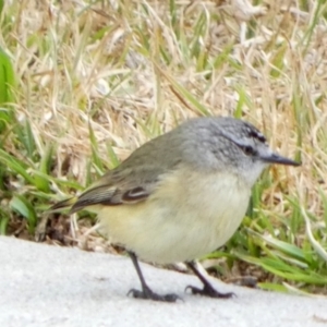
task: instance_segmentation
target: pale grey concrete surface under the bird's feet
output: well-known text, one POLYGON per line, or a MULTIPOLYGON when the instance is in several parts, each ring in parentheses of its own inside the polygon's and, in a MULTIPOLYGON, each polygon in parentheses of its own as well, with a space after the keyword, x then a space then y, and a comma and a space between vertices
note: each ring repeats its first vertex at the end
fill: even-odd
POLYGON ((327 299, 213 283, 238 298, 184 293, 197 278, 142 264, 152 288, 184 302, 126 296, 138 288, 126 257, 0 237, 0 326, 324 326, 327 299))

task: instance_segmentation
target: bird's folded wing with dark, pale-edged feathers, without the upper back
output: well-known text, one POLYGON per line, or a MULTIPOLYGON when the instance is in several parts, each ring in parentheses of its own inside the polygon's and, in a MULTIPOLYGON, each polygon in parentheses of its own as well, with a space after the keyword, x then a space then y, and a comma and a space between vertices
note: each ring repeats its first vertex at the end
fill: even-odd
POLYGON ((161 174, 161 169, 154 167, 109 171, 78 196, 70 214, 98 204, 114 206, 144 201, 157 187, 161 174))

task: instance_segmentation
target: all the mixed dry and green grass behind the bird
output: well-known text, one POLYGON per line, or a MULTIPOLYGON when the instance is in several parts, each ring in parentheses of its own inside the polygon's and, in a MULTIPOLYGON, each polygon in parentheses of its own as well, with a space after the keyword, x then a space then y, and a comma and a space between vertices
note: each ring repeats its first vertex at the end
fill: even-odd
POLYGON ((234 116, 303 166, 263 174, 205 267, 326 293, 327 4, 270 2, 0 1, 1 234, 112 250, 89 214, 45 210, 179 122, 234 116))

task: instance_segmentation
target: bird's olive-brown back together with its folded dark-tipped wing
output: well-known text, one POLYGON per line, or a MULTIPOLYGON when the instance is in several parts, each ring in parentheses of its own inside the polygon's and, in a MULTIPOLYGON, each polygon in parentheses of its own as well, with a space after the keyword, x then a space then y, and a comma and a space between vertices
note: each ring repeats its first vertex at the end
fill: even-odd
POLYGON ((119 167, 108 171, 82 193, 71 213, 97 204, 113 206, 146 199, 156 190, 162 175, 177 169, 181 162, 184 141, 178 133, 177 129, 137 148, 119 167))

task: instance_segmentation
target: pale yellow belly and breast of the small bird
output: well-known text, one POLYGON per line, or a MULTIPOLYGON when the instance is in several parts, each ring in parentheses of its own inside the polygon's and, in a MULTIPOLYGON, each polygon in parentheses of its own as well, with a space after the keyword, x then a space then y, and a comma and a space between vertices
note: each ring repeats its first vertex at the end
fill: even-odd
POLYGON ((161 264, 195 259, 223 245, 240 226, 251 193, 233 175, 193 172, 161 186, 145 202, 98 211, 101 231, 114 242, 161 264))

